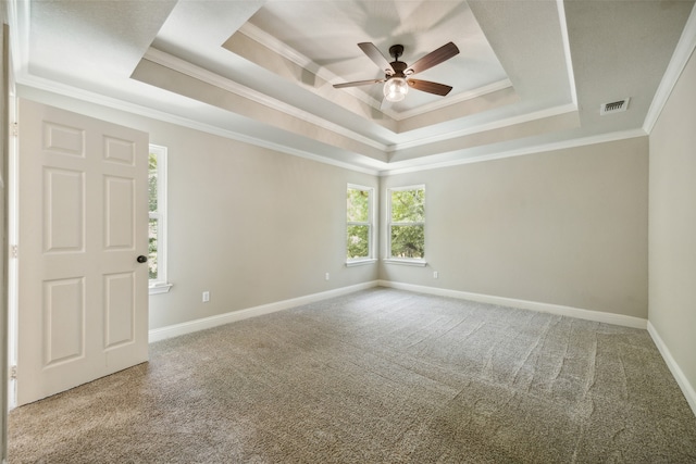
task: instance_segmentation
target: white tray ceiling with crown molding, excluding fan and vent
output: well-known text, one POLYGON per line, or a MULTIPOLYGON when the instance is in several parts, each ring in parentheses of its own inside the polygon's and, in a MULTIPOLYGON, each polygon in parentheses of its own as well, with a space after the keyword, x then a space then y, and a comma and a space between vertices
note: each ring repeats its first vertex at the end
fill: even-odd
MULTIPOLYGON (((635 134, 693 1, 245 0, 10 2, 15 79, 371 172, 635 134), (358 42, 455 58, 383 103, 358 42), (600 116, 602 103, 631 98, 600 116)), ((389 60, 391 61, 391 60, 389 60)))

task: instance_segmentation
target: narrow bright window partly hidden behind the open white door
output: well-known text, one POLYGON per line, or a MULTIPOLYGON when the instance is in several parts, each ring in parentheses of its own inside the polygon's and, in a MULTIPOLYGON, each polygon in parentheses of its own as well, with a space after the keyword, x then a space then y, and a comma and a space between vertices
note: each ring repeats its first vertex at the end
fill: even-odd
POLYGON ((148 272, 150 294, 164 293, 166 281, 166 148, 150 146, 148 160, 148 272))

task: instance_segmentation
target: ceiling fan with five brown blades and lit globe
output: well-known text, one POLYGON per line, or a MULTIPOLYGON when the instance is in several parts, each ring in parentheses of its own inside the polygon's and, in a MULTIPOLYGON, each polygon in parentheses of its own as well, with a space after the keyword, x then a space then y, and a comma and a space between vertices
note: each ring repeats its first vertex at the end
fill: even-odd
POLYGON ((452 89, 451 86, 445 84, 431 83, 430 80, 412 79, 415 73, 430 70, 436 64, 447 61, 459 53, 459 49, 452 42, 445 43, 437 50, 427 53, 412 65, 408 65, 399 61, 399 57, 403 54, 403 46, 394 45, 389 47, 389 54, 394 61, 389 63, 387 59, 380 52, 377 47, 372 42, 361 42, 358 47, 372 60, 382 71, 384 71, 383 79, 356 80, 352 83, 334 84, 334 88, 357 87, 370 84, 384 83, 384 98, 387 101, 401 101, 409 91, 409 87, 428 93, 446 96, 452 89))

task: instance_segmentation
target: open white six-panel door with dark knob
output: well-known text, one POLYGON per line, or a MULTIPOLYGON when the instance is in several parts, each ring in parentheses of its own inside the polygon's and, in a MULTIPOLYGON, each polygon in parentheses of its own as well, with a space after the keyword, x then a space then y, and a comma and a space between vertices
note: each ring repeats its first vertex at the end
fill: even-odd
POLYGON ((148 135, 18 112, 22 405, 148 360, 148 135))

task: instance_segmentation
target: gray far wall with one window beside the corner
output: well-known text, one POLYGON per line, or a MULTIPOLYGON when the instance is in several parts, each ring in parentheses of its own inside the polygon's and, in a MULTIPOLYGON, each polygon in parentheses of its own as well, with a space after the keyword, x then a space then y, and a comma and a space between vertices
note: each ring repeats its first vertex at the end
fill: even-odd
POLYGON ((428 266, 380 278, 646 318, 647 179, 647 137, 390 176, 425 184, 428 266))

